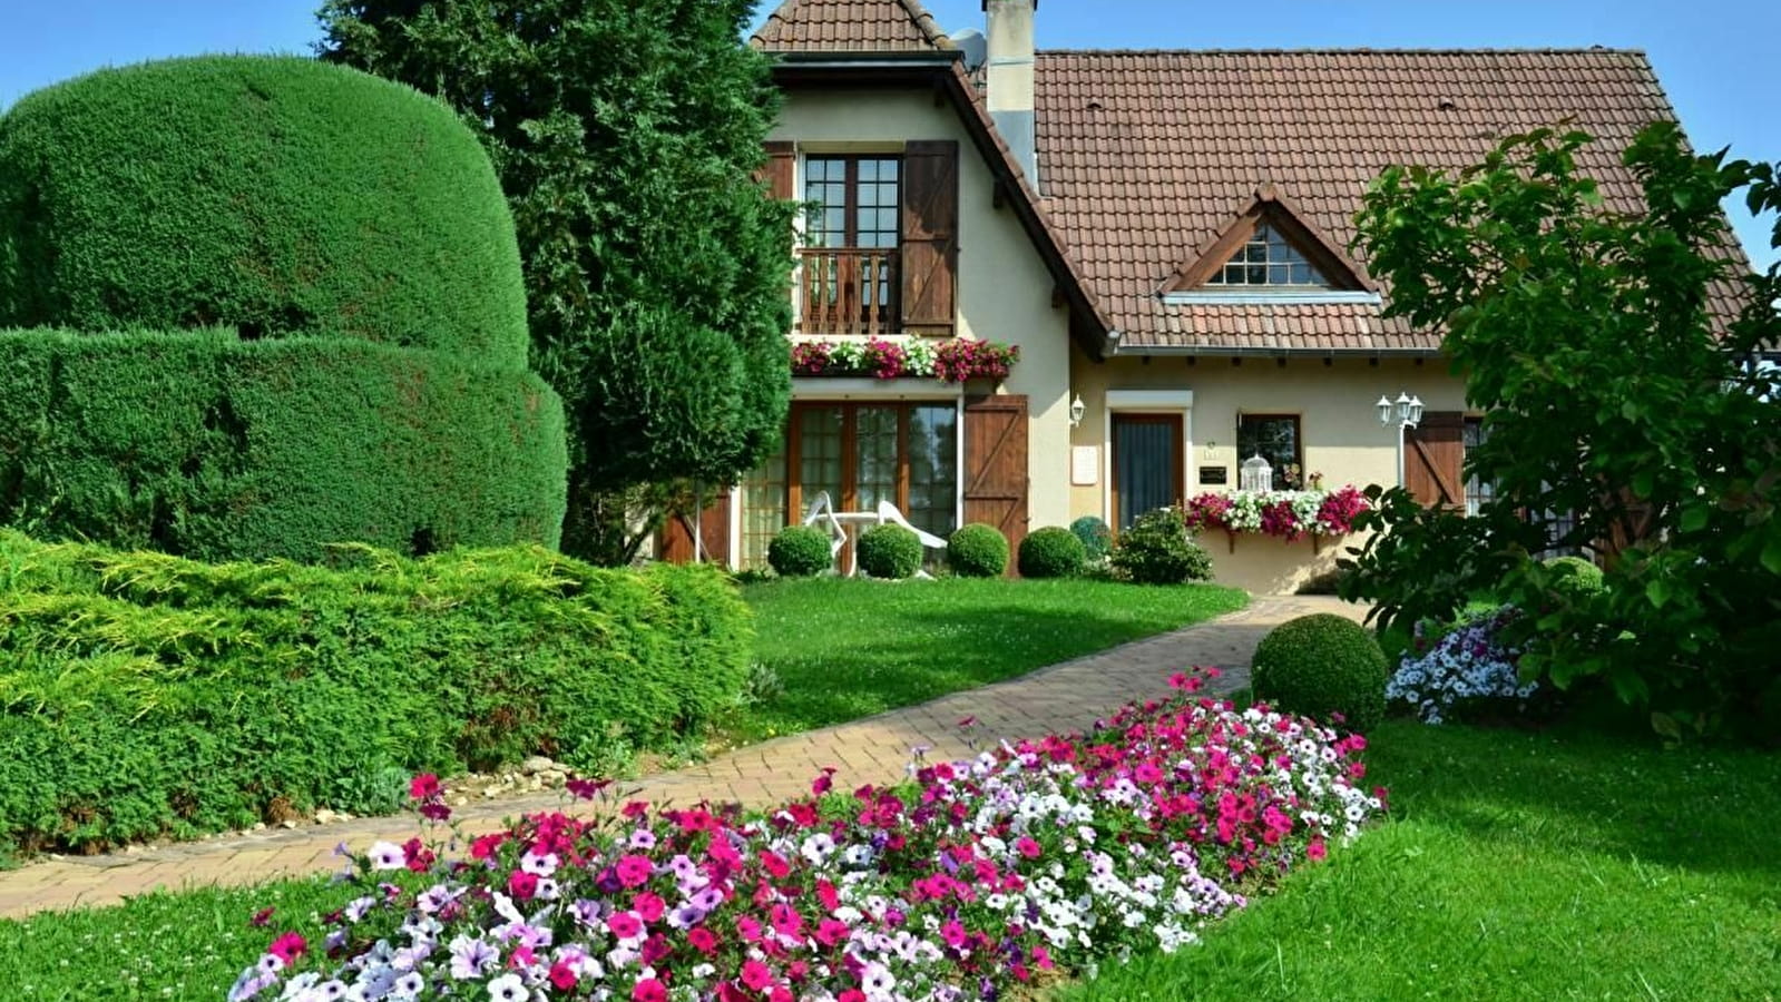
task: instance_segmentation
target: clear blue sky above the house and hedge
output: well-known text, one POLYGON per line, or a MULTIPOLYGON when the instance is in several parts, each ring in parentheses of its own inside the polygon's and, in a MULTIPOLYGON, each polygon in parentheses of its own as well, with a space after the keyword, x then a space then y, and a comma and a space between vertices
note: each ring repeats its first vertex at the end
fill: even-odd
MULTIPOLYGON (((310 52, 315 0, 0 0, 0 107, 87 69, 201 52, 310 52)), ((947 30, 980 0, 928 0, 947 30)), ((764 14, 762 14, 764 16, 764 14)), ((1044 0, 1044 48, 1642 48, 1699 149, 1781 160, 1781 2, 1044 0)), ((1767 230, 1733 221, 1760 263, 1767 230)))

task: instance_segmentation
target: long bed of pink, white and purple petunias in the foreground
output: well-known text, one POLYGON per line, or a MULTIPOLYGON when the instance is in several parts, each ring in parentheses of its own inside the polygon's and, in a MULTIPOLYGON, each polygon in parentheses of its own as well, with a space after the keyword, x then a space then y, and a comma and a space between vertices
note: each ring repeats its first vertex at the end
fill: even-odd
MULTIPOLYGON (((896 788, 841 797, 823 771, 760 820, 629 803, 520 819, 461 860, 372 845, 319 941, 280 934, 230 998, 965 1000, 1174 950, 1359 835, 1384 790, 1357 787, 1362 739, 1172 683, 896 788)), ((449 815, 431 776, 413 794, 449 815)))

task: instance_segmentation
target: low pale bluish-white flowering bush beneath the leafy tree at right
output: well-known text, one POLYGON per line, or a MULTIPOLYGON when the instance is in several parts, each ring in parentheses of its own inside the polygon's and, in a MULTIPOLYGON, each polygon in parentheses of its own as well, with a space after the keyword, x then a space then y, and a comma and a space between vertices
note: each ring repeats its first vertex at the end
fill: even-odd
POLYGON ((1539 689, 1523 683, 1516 660, 1521 651, 1501 637, 1516 619, 1510 607, 1462 618, 1446 630, 1418 623, 1411 655, 1391 675, 1386 699, 1403 703, 1423 723, 1439 724, 1503 701, 1526 701, 1539 689))

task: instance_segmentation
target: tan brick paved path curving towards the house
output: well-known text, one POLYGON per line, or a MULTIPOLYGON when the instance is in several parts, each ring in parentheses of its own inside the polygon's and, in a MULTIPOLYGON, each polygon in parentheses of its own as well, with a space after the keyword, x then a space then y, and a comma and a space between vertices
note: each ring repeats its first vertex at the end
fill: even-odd
MULTIPOLYGON (((1261 637, 1307 612, 1361 618, 1361 609, 1334 598, 1256 598, 1243 612, 1211 623, 919 707, 752 744, 702 765, 648 776, 625 787, 625 794, 657 804, 741 801, 766 806, 809 792, 810 778, 825 765, 839 769, 839 788, 894 781, 905 774, 915 746, 931 747, 930 760, 972 755, 958 728, 967 715, 980 721, 971 735, 983 744, 1081 730, 1133 699, 1167 692, 1168 675, 1190 666, 1222 667, 1225 675, 1216 683, 1218 691, 1240 689, 1248 683, 1248 660, 1261 637)), ((467 831, 483 833, 499 828, 502 817, 563 806, 561 794, 547 792, 497 797, 454 812, 467 831)), ((326 872, 338 867, 333 854, 338 842, 363 851, 379 838, 403 842, 417 831, 417 819, 404 815, 36 861, 0 872, 0 918, 77 904, 114 904, 157 888, 249 885, 326 872)))

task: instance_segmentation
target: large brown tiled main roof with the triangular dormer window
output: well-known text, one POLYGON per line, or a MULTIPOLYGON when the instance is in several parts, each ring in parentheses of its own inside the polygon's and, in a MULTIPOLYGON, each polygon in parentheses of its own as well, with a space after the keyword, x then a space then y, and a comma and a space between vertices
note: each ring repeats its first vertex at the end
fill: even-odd
POLYGON ((1674 119, 1639 52, 1042 52, 1037 71, 1045 208, 1120 351, 1434 351, 1437 333, 1377 306, 1165 304, 1159 290, 1263 185, 1346 247, 1382 167, 1466 167, 1565 117, 1598 137, 1580 169, 1606 205, 1639 210, 1621 151, 1674 119))

